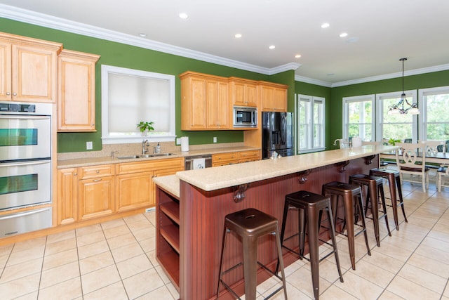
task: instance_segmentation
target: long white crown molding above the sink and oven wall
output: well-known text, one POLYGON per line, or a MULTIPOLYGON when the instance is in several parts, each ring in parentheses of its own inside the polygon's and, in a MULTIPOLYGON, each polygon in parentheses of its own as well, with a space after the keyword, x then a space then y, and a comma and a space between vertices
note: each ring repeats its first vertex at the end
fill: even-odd
POLYGON ((130 34, 123 34, 112 30, 105 30, 104 28, 86 25, 80 22, 66 20, 52 15, 45 15, 35 11, 28 11, 14 6, 0 4, 0 17, 20 22, 26 22, 33 25, 52 28, 55 30, 62 30, 65 32, 72 32, 75 34, 82 34, 88 37, 95 37, 98 39, 105 39, 107 41, 115 41, 131 46, 138 46, 147 48, 149 50, 160 51, 163 53, 173 54, 175 56, 182 56, 185 58, 192 58, 196 60, 206 61, 208 63, 216 63, 217 65, 225 65, 227 67, 235 67, 237 69, 256 72, 260 74, 276 74, 284 70, 296 70, 299 65, 295 63, 282 65, 269 69, 267 67, 260 67, 248 63, 242 63, 238 60, 230 60, 220 56, 213 56, 208 53, 193 51, 187 48, 173 46, 170 44, 161 43, 159 41, 152 41, 141 37, 134 37, 130 34), (297 65, 296 69, 293 69, 297 65))

